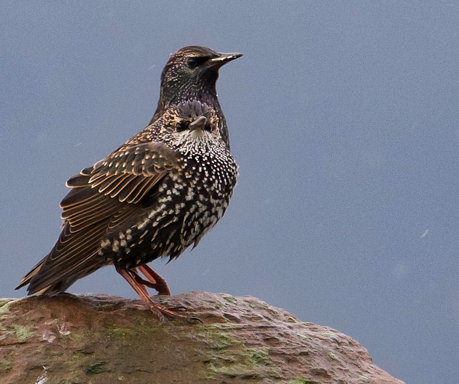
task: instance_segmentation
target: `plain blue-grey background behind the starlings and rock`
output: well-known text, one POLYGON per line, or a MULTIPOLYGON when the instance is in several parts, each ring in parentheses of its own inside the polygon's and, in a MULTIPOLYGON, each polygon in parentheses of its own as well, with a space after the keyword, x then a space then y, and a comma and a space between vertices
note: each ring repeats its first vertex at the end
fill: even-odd
MULTIPOLYGON (((417 384, 459 377, 456 1, 0 3, 0 296, 53 245, 64 182, 150 121, 190 44, 245 55, 218 95, 240 178, 173 293, 250 294, 417 384)), ((70 292, 135 297, 113 268, 70 292)))

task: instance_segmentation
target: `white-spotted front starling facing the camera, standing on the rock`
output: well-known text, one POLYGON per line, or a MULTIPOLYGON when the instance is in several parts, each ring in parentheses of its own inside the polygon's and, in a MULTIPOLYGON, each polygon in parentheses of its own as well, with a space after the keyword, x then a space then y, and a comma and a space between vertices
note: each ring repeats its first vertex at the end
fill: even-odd
POLYGON ((220 119, 198 100, 171 104, 153 124, 71 177, 60 203, 61 234, 16 289, 61 292, 114 265, 160 319, 186 317, 149 296, 145 287, 170 291, 146 263, 196 247, 225 213, 238 165, 220 135, 220 119))

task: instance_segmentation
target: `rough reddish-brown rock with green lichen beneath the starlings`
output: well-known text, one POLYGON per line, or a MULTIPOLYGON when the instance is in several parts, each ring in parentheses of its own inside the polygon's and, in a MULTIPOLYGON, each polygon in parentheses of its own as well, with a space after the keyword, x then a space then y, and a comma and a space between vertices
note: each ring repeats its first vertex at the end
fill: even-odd
POLYGON ((138 300, 0 300, 0 383, 403 384, 357 341, 251 296, 156 296, 204 325, 165 324, 138 300))

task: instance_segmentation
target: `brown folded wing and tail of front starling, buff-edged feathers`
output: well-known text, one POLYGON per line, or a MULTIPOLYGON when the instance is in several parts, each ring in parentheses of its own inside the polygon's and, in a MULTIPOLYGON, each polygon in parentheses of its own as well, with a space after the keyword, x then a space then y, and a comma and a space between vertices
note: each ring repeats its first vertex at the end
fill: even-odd
POLYGON ((95 263, 100 262, 96 254, 102 237, 139 213, 142 198, 178 166, 177 153, 165 144, 124 144, 70 178, 66 185, 71 191, 60 203, 64 223, 59 239, 19 287, 30 282, 29 293, 34 293, 101 266, 95 263))

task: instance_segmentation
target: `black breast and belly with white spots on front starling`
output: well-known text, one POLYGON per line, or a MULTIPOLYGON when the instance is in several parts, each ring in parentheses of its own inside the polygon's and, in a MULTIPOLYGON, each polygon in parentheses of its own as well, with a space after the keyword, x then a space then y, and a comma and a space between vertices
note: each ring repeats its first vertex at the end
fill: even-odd
POLYGON ((117 261, 133 267, 161 256, 178 257, 193 242, 196 245, 225 213, 236 178, 232 156, 186 158, 162 180, 155 203, 115 240, 122 245, 116 247, 117 261), (131 250, 134 257, 128 254, 131 250))

